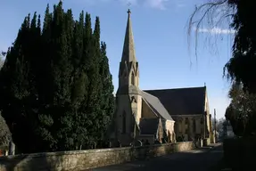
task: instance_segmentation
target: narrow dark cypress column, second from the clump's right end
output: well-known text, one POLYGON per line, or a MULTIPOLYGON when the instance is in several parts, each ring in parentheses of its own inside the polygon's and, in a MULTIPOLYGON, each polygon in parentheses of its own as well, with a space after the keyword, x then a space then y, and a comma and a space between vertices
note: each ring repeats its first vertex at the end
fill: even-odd
POLYGON ((87 145, 90 145, 96 141, 97 132, 95 127, 97 127, 97 113, 100 109, 99 102, 97 102, 99 85, 98 56, 95 53, 95 38, 93 37, 91 17, 88 13, 86 13, 84 35, 84 56, 81 62, 84 65, 89 80, 84 115, 87 118, 86 128, 89 133, 87 134, 87 145))

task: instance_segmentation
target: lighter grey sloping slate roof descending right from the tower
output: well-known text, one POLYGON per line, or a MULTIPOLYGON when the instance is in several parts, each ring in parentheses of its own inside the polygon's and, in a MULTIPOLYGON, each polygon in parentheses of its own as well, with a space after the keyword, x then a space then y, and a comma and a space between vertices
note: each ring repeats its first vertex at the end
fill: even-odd
POLYGON ((168 110, 165 109, 165 107, 161 104, 160 100, 157 97, 153 96, 152 94, 148 94, 144 91, 141 91, 141 95, 145 102, 149 105, 149 107, 157 116, 168 120, 173 120, 170 117, 168 110))

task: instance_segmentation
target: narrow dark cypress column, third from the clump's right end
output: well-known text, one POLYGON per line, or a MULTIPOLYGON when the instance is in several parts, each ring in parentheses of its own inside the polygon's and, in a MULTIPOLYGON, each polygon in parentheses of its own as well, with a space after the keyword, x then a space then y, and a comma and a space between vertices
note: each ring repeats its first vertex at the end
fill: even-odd
POLYGON ((87 69, 85 68, 85 52, 87 46, 84 45, 85 35, 85 16, 84 12, 79 15, 79 20, 76 21, 74 26, 73 37, 73 85, 71 104, 73 109, 73 120, 76 123, 73 125, 73 136, 75 149, 78 150, 84 143, 87 142, 87 86, 88 77, 87 69))

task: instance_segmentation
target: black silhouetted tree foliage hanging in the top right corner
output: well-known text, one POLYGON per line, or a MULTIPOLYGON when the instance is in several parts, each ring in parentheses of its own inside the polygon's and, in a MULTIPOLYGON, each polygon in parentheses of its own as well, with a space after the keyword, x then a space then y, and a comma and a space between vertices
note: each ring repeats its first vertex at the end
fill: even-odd
POLYGON ((235 4, 231 27, 236 30, 232 58, 225 69, 227 76, 236 82, 242 82, 244 90, 256 93, 256 24, 252 16, 256 15, 255 1, 231 1, 235 4))

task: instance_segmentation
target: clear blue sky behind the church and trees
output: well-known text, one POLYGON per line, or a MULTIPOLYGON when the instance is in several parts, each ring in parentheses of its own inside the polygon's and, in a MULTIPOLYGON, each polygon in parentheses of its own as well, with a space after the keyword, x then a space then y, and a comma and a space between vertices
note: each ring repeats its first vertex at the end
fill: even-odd
MULTIPOLYGON (((1 0, 0 50, 12 44, 25 15, 35 11, 44 15, 47 3, 52 6, 58 0, 1 0)), ((115 90, 130 8, 141 89, 203 86, 206 83, 211 113, 215 108, 217 118, 224 116, 229 83, 222 78, 222 69, 230 57, 228 37, 232 35, 222 31, 223 40, 217 42, 218 54, 210 53, 205 48, 205 44, 208 45, 205 37, 200 37, 198 57, 195 57, 194 46, 188 48, 186 24, 194 5, 201 4, 202 0, 64 0, 63 3, 65 9, 72 9, 76 19, 82 10, 91 13, 93 19, 100 17, 115 90)), ((202 32, 208 30, 202 28, 202 32)), ((214 39, 214 34, 211 37, 214 39)))

